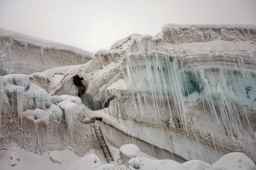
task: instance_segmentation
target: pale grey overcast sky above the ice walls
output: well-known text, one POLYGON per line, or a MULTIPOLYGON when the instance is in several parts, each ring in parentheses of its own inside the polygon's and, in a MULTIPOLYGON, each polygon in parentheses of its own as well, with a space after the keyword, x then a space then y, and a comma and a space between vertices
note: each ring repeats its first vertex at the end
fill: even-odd
POLYGON ((0 27, 96 52, 166 23, 256 25, 256 0, 0 0, 0 27))

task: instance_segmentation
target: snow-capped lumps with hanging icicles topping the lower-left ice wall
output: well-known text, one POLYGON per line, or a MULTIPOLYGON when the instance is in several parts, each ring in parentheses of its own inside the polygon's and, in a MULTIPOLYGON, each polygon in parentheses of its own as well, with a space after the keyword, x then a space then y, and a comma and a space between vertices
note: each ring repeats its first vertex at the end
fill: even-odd
POLYGON ((76 121, 88 123, 84 117, 81 99, 78 97, 50 96, 44 89, 33 84, 28 75, 23 74, 2 76, 0 82, 0 120, 1 123, 5 124, 4 130, 1 126, 1 137, 7 141, 8 133, 14 133, 12 130, 15 130, 15 128, 9 129, 8 127, 20 126, 15 133, 19 134, 17 139, 20 138, 24 142, 28 140, 28 137, 31 137, 27 133, 37 134, 39 128, 46 127, 50 133, 57 130, 62 137, 64 137, 64 133, 67 133, 70 142, 73 143, 76 121), (2 122, 3 119, 4 122, 2 122), (31 127, 35 131, 30 131, 31 127))

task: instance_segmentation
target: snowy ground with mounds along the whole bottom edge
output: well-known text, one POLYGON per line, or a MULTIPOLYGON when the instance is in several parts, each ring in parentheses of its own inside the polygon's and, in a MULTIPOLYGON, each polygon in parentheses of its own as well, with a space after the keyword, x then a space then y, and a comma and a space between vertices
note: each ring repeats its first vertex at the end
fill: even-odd
MULTIPOLYGON (((127 146, 125 146, 127 148, 127 146)), ((42 155, 27 152, 16 146, 10 149, 2 148, 0 153, 0 166, 5 169, 68 169, 68 170, 255 170, 256 166, 247 156, 243 153, 233 152, 229 153, 217 162, 210 165, 200 160, 190 160, 184 163, 179 163, 170 159, 158 160, 156 158, 148 157, 147 154, 140 152, 144 157, 137 155, 137 158, 132 158, 128 163, 122 164, 122 156, 118 154, 120 149, 109 146, 112 156, 115 161, 107 163, 104 155, 99 150, 90 150, 84 156, 79 157, 74 152, 65 149, 61 151, 48 151, 42 155)), ((130 145, 130 151, 136 152, 138 149, 130 145), (135 149, 133 151, 133 149, 135 149)), ((124 151, 124 148, 122 149, 124 151)))

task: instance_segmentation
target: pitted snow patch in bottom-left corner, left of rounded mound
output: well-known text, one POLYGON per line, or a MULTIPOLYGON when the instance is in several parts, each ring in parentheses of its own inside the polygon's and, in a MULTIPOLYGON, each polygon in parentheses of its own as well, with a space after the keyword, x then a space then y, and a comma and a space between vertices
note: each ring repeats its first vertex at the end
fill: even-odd
POLYGON ((0 166, 3 170, 26 169, 55 169, 63 170, 73 164, 79 157, 72 151, 49 151, 44 155, 24 151, 18 147, 12 147, 1 154, 0 166), (58 160, 58 162, 56 162, 58 160))

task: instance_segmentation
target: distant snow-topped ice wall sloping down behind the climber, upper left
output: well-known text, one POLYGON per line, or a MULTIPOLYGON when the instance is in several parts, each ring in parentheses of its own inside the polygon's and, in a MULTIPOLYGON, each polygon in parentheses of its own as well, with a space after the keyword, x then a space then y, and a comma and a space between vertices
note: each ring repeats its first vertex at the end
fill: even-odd
POLYGON ((91 52, 0 28, 0 75, 84 64, 91 52))

